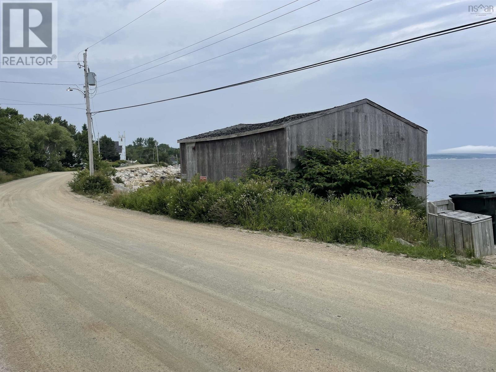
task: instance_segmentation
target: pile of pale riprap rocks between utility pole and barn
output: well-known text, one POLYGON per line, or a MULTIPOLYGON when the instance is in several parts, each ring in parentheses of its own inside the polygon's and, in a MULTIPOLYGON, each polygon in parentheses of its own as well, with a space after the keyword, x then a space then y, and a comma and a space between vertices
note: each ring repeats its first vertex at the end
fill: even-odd
POLYGON ((169 165, 167 167, 146 167, 117 171, 112 176, 112 183, 116 190, 137 190, 140 187, 151 185, 159 180, 173 180, 181 177, 181 167, 179 165, 169 165), (116 183, 115 178, 120 177, 124 184, 116 183))

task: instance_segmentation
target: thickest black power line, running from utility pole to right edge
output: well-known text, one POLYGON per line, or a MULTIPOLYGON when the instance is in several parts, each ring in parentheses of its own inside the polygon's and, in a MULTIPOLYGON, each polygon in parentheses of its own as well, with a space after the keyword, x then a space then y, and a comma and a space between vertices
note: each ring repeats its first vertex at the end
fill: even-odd
POLYGON ((303 70, 306 70, 306 69, 309 69, 309 68, 318 67, 318 66, 322 66, 322 65, 325 65, 325 64, 330 64, 330 63, 334 63, 334 62, 344 61, 344 60, 348 60, 348 59, 352 59, 352 58, 364 56, 364 55, 367 55, 367 54, 372 54, 372 53, 375 53, 375 52, 380 52, 380 51, 383 51, 383 50, 386 50, 386 49, 396 48, 396 47, 399 47, 399 46, 402 46, 402 45, 407 45, 407 44, 415 43, 415 42, 418 42, 418 41, 421 41, 421 40, 426 40, 426 39, 434 38, 434 37, 437 37, 437 36, 447 35, 447 34, 451 34, 453 32, 468 30, 468 29, 474 28, 474 27, 484 26, 486 24, 490 24, 490 23, 494 23, 494 22, 496 22, 496 17, 488 18, 488 19, 483 20, 483 21, 478 21, 478 22, 473 22, 473 23, 468 23, 468 24, 465 24, 465 25, 461 25, 461 26, 456 26, 456 27, 448 28, 448 29, 441 30, 441 31, 436 31, 436 32, 433 32, 433 33, 430 33, 430 34, 421 35, 421 36, 417 36, 417 37, 414 37, 414 38, 411 38, 411 39, 406 39, 406 40, 398 41, 396 43, 391 43, 391 44, 383 45, 381 47, 376 47, 376 48, 368 49, 368 50, 365 50, 365 51, 362 51, 362 52, 353 53, 353 54, 350 54, 350 55, 347 55, 347 56, 342 56, 342 57, 333 58, 333 59, 327 60, 327 61, 312 63, 312 64, 309 64, 309 65, 306 65, 306 66, 302 66, 302 67, 298 67, 298 68, 293 68, 291 70, 286 70, 286 71, 282 71, 282 72, 277 72, 277 73, 274 73, 274 74, 271 74, 271 75, 257 77, 257 78, 251 79, 251 80, 246 80, 246 81, 242 81, 242 82, 235 83, 235 84, 225 85, 225 86, 218 87, 218 88, 208 89, 208 90, 204 90, 204 91, 196 92, 196 93, 185 94, 183 96, 178 96, 178 97, 173 97, 173 98, 167 98, 167 99, 163 99, 163 100, 159 100, 159 101, 142 103, 142 104, 139 104, 139 105, 125 106, 125 107, 119 107, 119 108, 116 108, 116 109, 109 109, 109 110, 101 110, 101 111, 95 112, 95 114, 109 112, 109 111, 129 109, 129 108, 132 108, 132 107, 152 105, 154 103, 172 101, 172 100, 176 100, 176 99, 180 99, 180 98, 191 97, 191 96, 195 96, 195 95, 199 95, 199 94, 214 92, 214 91, 217 91, 217 90, 227 89, 227 88, 235 87, 235 86, 238 86, 238 85, 244 85, 244 84, 252 83, 252 82, 255 82, 255 81, 270 79, 272 77, 282 76, 282 75, 286 75, 286 74, 297 72, 297 71, 303 71, 303 70))

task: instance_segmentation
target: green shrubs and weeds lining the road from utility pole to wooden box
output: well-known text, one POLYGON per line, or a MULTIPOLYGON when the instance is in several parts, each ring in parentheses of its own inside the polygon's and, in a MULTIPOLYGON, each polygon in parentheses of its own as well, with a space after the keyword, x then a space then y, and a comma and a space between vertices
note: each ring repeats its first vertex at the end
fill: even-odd
MULTIPOLYGON (((191 222, 446 259, 462 266, 482 262, 427 244, 424 200, 412 193, 416 184, 427 182, 419 173, 420 164, 362 157, 338 143, 301 150, 293 170, 281 170, 277 159, 271 159, 264 167, 252 164, 237 181, 205 182, 196 177, 190 183, 157 182, 109 194, 107 203, 191 222)), ((69 186, 92 195, 110 192, 115 173, 108 164, 99 167, 93 177, 79 172, 69 186)))

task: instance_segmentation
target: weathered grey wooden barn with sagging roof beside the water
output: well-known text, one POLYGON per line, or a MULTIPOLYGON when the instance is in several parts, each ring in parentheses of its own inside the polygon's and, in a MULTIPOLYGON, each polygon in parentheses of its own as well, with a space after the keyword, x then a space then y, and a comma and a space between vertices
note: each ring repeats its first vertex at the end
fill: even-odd
MULTIPOLYGON (((266 164, 274 152, 281 168, 291 168, 299 145, 330 146, 327 139, 348 140, 364 155, 427 164, 427 129, 363 99, 332 109, 267 123, 238 124, 180 139, 182 178, 190 180, 199 174, 208 180, 234 179, 242 176, 253 160, 266 164)), ((419 185, 415 193, 425 197, 426 191, 425 185, 419 185)))

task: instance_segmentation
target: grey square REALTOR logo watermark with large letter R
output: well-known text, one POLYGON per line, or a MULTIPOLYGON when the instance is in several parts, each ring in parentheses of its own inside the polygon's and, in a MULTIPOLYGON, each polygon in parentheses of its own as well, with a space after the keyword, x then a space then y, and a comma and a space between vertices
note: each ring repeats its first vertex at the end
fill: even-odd
POLYGON ((0 0, 0 68, 57 68, 57 1, 0 0))

